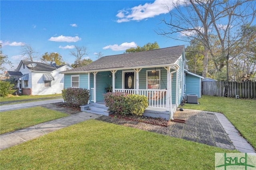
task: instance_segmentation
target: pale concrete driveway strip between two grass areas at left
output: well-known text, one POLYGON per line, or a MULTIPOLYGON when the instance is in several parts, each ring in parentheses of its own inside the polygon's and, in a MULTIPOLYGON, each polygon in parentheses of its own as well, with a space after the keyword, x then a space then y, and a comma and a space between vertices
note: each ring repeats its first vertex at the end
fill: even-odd
POLYGON ((28 102, 28 103, 19 103, 14 105, 2 105, 0 106, 0 111, 3 112, 3 111, 15 110, 15 109, 23 109, 23 108, 29 108, 29 107, 39 106, 39 105, 46 105, 50 103, 58 103, 62 101, 63 99, 60 98, 60 99, 34 101, 34 102, 28 102))

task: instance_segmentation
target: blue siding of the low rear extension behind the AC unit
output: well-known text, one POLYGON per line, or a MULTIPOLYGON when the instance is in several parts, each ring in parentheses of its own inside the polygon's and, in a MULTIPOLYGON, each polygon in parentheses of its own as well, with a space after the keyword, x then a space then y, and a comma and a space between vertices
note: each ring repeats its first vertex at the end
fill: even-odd
POLYGON ((200 77, 186 73, 186 95, 200 95, 200 77))

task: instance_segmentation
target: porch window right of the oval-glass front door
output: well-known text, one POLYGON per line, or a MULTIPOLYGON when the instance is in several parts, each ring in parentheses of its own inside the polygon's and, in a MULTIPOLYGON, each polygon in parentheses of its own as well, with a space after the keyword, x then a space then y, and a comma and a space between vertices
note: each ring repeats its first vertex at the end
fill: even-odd
POLYGON ((160 89, 160 70, 147 70, 147 89, 160 89))

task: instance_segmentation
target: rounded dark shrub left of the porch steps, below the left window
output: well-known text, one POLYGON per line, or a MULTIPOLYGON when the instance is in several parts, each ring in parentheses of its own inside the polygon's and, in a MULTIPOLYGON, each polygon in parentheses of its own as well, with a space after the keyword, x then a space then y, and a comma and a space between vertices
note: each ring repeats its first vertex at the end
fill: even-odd
POLYGON ((69 106, 79 107, 88 103, 90 91, 82 88, 63 89, 62 97, 69 106))

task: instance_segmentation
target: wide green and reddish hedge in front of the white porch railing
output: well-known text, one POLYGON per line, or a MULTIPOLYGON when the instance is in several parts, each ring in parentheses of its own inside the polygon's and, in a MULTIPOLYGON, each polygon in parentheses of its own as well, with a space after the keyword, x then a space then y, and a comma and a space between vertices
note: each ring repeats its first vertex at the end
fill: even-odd
POLYGON ((120 115, 141 116, 148 107, 148 98, 144 95, 109 92, 104 95, 104 101, 110 111, 120 115))

